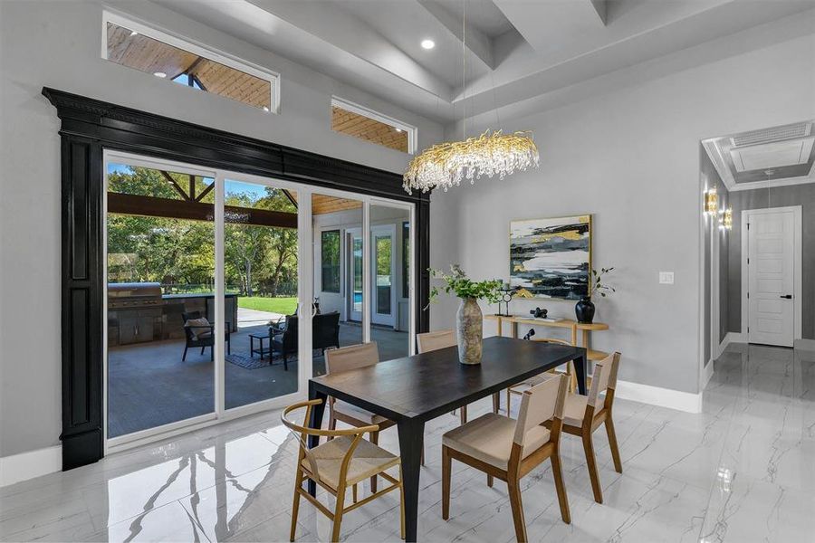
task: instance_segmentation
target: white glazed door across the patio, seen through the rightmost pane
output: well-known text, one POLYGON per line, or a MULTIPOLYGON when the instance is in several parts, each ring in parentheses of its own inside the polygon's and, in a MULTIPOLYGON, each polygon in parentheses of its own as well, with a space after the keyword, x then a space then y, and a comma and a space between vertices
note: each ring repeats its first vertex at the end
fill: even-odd
POLYGON ((396 226, 387 224, 370 229, 371 311, 370 321, 394 326, 396 319, 396 226))

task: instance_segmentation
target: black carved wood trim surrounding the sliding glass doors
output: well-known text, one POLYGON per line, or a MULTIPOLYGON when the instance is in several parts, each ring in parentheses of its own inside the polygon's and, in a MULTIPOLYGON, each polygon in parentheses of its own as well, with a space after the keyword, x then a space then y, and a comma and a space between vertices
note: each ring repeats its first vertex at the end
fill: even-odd
POLYGON ((430 200, 401 176, 223 130, 43 88, 62 138, 62 469, 102 457, 103 150, 114 149, 416 205, 416 329, 429 329, 430 200))

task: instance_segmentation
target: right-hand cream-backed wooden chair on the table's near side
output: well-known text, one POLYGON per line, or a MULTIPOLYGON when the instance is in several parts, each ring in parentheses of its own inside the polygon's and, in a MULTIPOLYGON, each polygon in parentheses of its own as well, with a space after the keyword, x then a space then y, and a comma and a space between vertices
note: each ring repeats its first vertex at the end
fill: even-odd
MULTIPOLYGON (((580 436, 583 440, 583 450, 586 452, 586 463, 589 467, 591 490, 594 492, 594 500, 598 503, 603 502, 603 491, 600 489, 597 459, 594 454, 594 443, 591 441, 591 434, 598 429, 600 424, 606 426, 611 459, 614 461, 614 470, 622 473, 617 434, 614 432, 614 422, 611 420, 614 389, 617 387, 619 357, 619 353, 613 353, 603 360, 595 362, 594 377, 591 380, 589 395, 567 395, 563 410, 563 432, 580 436), (603 392, 606 393, 606 397, 600 398, 603 392)), ((547 426, 554 428, 555 424, 560 425, 557 421, 550 421, 547 426)))

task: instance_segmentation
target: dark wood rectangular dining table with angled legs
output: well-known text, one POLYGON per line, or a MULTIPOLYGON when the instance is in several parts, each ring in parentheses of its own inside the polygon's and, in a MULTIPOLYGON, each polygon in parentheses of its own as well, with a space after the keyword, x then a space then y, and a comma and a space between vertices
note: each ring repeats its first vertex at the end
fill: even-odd
MULTIPOLYGON (((396 358, 309 381, 310 424, 320 428, 325 399, 333 396, 396 421, 405 487, 406 540, 416 541, 419 471, 425 423, 442 414, 500 392, 554 367, 574 361, 580 394, 586 394, 586 349, 523 339, 484 339, 481 364, 458 361, 455 347, 396 358)), ((309 447, 319 443, 309 438, 309 447)), ((309 481, 314 495, 316 484, 309 481)))

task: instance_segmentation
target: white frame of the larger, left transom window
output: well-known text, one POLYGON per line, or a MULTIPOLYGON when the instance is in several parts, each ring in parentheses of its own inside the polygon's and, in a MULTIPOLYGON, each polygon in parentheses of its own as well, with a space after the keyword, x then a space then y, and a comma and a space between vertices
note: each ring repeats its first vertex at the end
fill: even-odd
MULTIPOLYGON (((130 31, 135 31, 142 35, 145 35, 149 38, 157 40, 161 43, 166 43, 172 47, 176 47, 177 49, 181 49, 186 52, 191 52, 196 54, 200 57, 205 57, 207 60, 219 62, 224 64, 225 66, 232 68, 233 70, 243 71, 249 75, 252 75, 258 79, 262 79, 264 81, 269 81, 270 83, 270 93, 271 93, 271 100, 270 103, 272 107, 269 111, 265 111, 261 108, 254 108, 250 104, 242 102, 240 100, 230 99, 225 96, 221 96, 214 92, 209 92, 208 90, 204 90, 204 92, 211 94, 213 96, 217 96, 219 98, 225 98, 227 100, 234 100, 238 103, 242 103, 245 106, 252 107, 257 110, 261 110, 266 113, 280 113, 280 73, 272 70, 268 70, 266 68, 262 68, 252 62, 247 62, 245 60, 239 59, 233 55, 227 54, 225 52, 220 52, 212 47, 202 45, 200 43, 196 43, 189 38, 181 37, 179 35, 169 33, 166 30, 159 30, 158 27, 151 26, 149 24, 145 24, 139 22, 130 16, 119 14, 110 9, 102 10, 102 21, 101 21, 101 58, 105 61, 110 61, 108 58, 108 24, 116 24, 118 26, 122 26, 124 28, 128 28, 130 31)), ((120 66, 125 66, 129 68, 126 64, 119 64, 120 66)), ((132 70, 137 70, 136 68, 132 68, 132 70)), ((137 70, 138 71, 138 70, 137 70)), ((147 73, 147 72, 143 72, 147 73)), ((176 84, 177 87, 189 87, 188 85, 179 85, 175 81, 167 80, 176 84)), ((189 87, 194 89, 194 87, 189 87)), ((203 90, 203 89, 195 89, 195 90, 203 90)))

